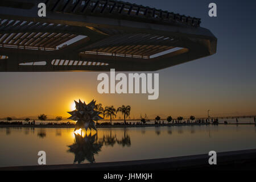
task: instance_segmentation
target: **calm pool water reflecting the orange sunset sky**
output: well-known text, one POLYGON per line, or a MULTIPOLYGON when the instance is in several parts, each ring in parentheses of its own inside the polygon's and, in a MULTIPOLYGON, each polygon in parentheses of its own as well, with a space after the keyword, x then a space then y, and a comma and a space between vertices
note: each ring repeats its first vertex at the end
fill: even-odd
POLYGON ((37 165, 38 151, 47 164, 72 164, 168 158, 210 150, 256 148, 255 125, 141 127, 98 129, 0 128, 0 166, 37 165), (87 137, 86 137, 87 136, 87 137))

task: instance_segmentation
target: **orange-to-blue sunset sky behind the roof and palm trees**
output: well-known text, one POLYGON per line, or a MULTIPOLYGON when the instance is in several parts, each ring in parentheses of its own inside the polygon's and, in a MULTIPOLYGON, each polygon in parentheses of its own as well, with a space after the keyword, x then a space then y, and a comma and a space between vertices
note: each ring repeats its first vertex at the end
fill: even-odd
POLYGON ((98 94, 99 72, 0 73, 0 118, 63 115, 73 100, 131 106, 131 118, 256 114, 256 1, 128 1, 201 18, 217 37, 215 55, 157 71, 159 98, 147 94, 98 94), (217 4, 217 17, 208 5, 217 4))

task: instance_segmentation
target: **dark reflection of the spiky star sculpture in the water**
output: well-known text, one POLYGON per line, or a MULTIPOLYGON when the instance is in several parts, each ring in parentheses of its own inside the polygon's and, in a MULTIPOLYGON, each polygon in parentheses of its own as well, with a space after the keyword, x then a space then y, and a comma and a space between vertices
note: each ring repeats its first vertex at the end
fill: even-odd
POLYGON ((101 151, 102 142, 97 141, 97 134, 92 136, 90 133, 85 137, 75 134, 75 143, 68 147, 68 152, 73 152, 75 154, 74 163, 77 162, 80 164, 81 162, 84 162, 84 160, 94 163, 94 154, 98 154, 98 152, 101 151))

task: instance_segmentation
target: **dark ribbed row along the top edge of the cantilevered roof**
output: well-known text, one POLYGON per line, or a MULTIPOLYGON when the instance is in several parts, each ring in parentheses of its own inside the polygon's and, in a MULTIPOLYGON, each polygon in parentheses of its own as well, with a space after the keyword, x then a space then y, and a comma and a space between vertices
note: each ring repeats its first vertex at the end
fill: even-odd
POLYGON ((193 27, 198 27, 201 23, 200 18, 192 18, 191 16, 115 0, 47 0, 46 4, 51 11, 60 13, 119 14, 166 23, 182 23, 193 27))

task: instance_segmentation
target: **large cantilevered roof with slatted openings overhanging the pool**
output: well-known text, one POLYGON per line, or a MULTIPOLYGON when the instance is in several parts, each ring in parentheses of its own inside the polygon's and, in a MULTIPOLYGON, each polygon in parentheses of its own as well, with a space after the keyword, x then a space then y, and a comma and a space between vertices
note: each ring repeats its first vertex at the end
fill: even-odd
POLYGON ((1 0, 0 72, 156 71, 216 53, 200 23, 114 0, 1 0))

